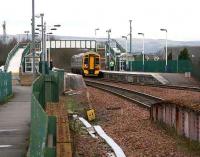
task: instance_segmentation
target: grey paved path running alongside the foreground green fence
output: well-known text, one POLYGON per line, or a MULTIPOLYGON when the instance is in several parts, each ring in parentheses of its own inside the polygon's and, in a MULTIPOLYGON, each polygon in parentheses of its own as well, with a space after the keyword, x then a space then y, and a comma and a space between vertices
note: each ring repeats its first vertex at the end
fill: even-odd
POLYGON ((31 87, 14 86, 14 98, 0 106, 0 157, 23 157, 30 130, 31 87))

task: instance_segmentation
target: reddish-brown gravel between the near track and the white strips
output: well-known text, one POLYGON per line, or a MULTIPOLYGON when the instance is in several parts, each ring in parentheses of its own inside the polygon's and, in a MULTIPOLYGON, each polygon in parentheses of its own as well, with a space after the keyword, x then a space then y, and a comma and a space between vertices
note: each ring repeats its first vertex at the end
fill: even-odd
MULTIPOLYGON (((164 129, 151 123, 148 110, 101 90, 91 87, 88 90, 97 123, 122 147, 127 157, 191 156, 164 129)), ((167 98, 164 93, 159 95, 158 89, 153 92, 167 98)))

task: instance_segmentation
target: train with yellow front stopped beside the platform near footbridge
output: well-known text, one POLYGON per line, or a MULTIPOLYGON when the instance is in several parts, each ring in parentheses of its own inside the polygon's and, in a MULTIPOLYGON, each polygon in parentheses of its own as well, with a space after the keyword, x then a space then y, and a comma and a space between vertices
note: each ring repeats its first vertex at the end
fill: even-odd
POLYGON ((99 76, 100 55, 96 52, 89 51, 72 56, 71 71, 72 73, 83 76, 99 76))

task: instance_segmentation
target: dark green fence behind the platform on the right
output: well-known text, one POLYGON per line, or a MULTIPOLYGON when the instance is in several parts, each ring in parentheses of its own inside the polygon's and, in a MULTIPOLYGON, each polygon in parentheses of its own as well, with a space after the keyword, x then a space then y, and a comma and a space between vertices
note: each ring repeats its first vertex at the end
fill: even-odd
MULTIPOLYGON (((145 61, 144 69, 142 61, 130 61, 129 69, 131 71, 145 72, 165 72, 165 61, 145 61)), ((189 60, 168 61, 167 72, 184 73, 192 71, 192 63, 189 60)))

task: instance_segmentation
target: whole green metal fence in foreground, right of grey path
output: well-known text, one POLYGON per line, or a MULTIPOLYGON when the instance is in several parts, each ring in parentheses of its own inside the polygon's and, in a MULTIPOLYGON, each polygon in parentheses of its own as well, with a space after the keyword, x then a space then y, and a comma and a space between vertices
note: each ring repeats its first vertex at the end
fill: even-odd
MULTIPOLYGON (((61 70, 62 71, 62 70, 61 70)), ((64 73, 63 73, 64 74, 64 73)), ((48 134, 55 136, 55 117, 48 116, 44 111, 47 102, 58 102, 59 78, 64 75, 59 75, 59 72, 50 72, 50 75, 39 76, 32 85, 32 100, 31 100, 31 135, 29 145, 29 157, 55 157, 56 148, 47 146, 48 134)))

